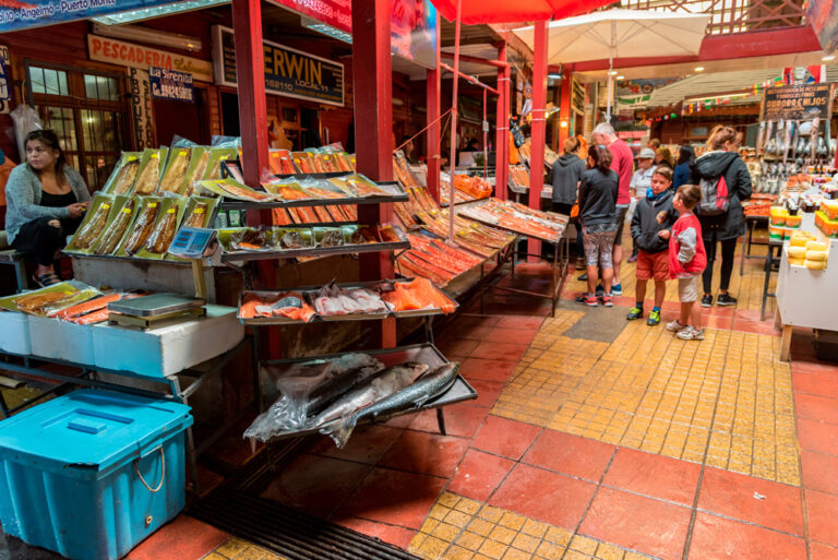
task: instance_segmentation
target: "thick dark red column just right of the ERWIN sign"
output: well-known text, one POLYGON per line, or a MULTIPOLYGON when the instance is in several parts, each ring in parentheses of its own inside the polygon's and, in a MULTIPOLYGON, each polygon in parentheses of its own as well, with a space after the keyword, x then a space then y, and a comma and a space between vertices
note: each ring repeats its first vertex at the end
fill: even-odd
MULTIPOLYGON (((352 85, 355 145, 358 172, 372 180, 393 179, 393 76, 390 59, 390 1, 352 0, 352 85)), ((360 204, 358 221, 384 224, 391 221, 391 204, 360 204)), ((360 257, 362 281, 395 277, 393 253, 360 257)), ((396 323, 381 322, 381 345, 396 345, 396 323)))

